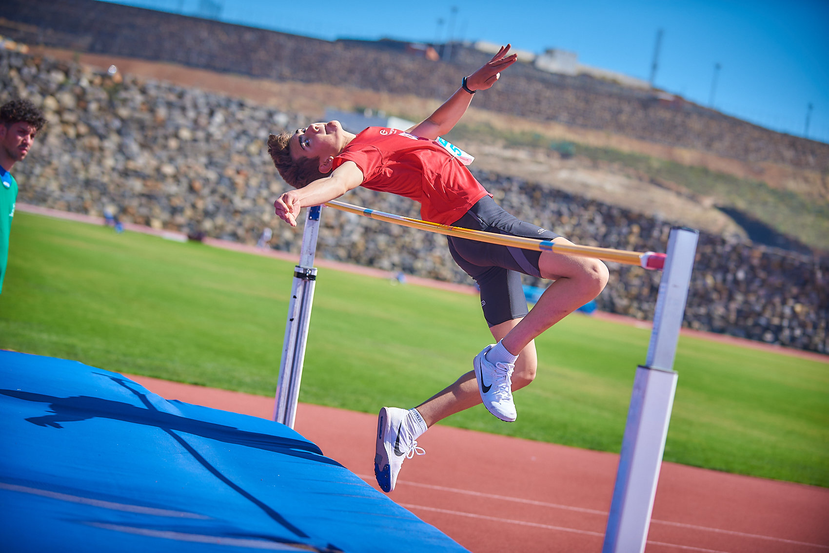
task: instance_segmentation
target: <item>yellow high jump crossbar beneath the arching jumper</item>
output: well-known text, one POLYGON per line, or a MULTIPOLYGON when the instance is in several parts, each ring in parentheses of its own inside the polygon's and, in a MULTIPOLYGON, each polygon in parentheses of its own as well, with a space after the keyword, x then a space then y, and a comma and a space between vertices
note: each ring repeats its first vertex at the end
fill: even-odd
POLYGON ((327 202, 328 207, 385 221, 386 223, 400 224, 404 227, 419 228, 430 233, 446 234, 457 238, 468 238, 478 242, 487 242, 499 246, 534 250, 536 252, 555 252, 576 255, 580 257, 595 257, 604 261, 613 261, 625 265, 638 265, 646 269, 658 270, 665 265, 665 254, 657 252, 628 252, 627 250, 616 250, 612 248, 597 248, 594 246, 579 246, 578 244, 554 243, 552 240, 539 240, 538 238, 524 238, 521 236, 510 236, 507 234, 487 233, 482 230, 471 228, 453 227, 448 224, 431 223, 420 219, 411 219, 402 215, 385 213, 376 209, 368 209, 359 205, 346 204, 337 200, 327 202))

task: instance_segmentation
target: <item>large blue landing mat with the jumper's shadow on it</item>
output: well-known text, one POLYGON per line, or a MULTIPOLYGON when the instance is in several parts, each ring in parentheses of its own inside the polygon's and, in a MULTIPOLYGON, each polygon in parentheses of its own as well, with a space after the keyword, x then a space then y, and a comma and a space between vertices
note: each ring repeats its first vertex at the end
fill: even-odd
POLYGON ((0 351, 0 551, 467 551, 302 435, 0 351))

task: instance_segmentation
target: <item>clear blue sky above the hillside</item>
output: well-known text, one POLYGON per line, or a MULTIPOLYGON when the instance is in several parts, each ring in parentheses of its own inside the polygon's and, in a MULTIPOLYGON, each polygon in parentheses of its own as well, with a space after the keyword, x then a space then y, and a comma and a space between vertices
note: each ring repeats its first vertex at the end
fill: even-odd
POLYGON ((764 127, 829 142, 829 1, 449 0, 275 2, 122 0, 304 36, 511 42, 571 50, 579 62, 647 80, 662 29, 656 86, 764 127), (453 11, 453 7, 456 8, 453 11), (712 86, 715 64, 720 64, 712 86))

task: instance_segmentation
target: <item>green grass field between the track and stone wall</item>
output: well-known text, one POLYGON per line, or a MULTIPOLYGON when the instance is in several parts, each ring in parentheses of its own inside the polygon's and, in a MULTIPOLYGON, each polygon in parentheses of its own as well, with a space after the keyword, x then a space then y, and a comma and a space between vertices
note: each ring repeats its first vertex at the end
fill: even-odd
MULTIPOLYGON (((417 231, 411 231, 417 232, 417 231)), ((0 348, 264 396, 274 393, 293 263, 18 212, 0 348)), ((618 452, 649 331, 571 315, 536 345, 519 419, 444 421, 618 452)), ((490 342, 478 301, 321 269, 300 400, 414 406, 490 342)), ((829 487, 829 363, 682 337, 665 459, 829 487)))

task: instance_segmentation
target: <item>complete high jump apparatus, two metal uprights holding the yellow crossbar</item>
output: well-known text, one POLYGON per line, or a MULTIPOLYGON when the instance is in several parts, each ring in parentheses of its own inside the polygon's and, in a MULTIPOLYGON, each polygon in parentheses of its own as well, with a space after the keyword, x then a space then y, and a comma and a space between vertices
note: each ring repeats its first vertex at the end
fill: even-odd
MULTIPOLYGON (((677 373, 673 370, 673 363, 685 313, 699 233, 693 228, 674 227, 671 228, 668 237, 666 253, 626 252, 574 244, 557 244, 537 238, 484 233, 468 228, 387 214, 338 201, 332 201, 326 205, 371 219, 459 238, 516 248, 598 257, 605 261, 662 270, 647 358, 643 365, 638 366, 633 379, 628 421, 625 425, 622 452, 619 455, 618 472, 613 488, 613 501, 610 505, 602 547, 602 553, 642 553, 645 550, 647 531, 651 524, 653 500, 657 492, 662 454, 665 451, 668 423, 671 420, 671 409, 676 393, 677 373)), ((285 325, 282 361, 279 365, 279 381, 276 387, 274 421, 291 428, 293 428, 296 416, 313 291, 317 279, 317 269, 313 267, 313 258, 317 249, 320 213, 321 206, 312 207, 308 209, 308 218, 305 220, 299 264, 294 267, 293 272, 288 322, 285 325)))

